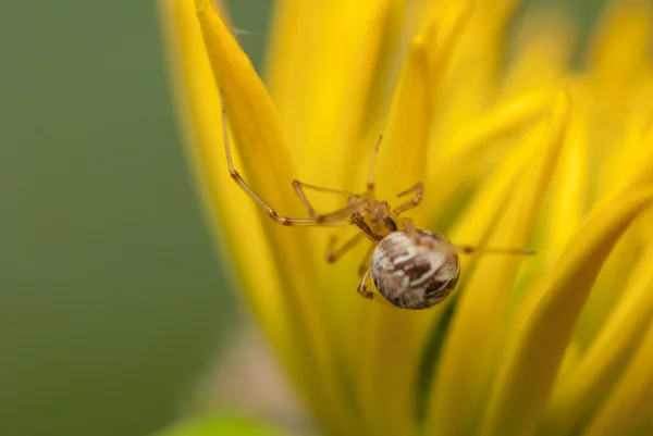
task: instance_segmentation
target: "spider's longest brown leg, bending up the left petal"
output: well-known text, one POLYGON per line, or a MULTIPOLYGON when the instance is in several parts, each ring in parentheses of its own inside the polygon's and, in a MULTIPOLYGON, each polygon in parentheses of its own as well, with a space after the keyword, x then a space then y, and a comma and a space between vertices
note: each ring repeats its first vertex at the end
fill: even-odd
POLYGON ((330 226, 330 225, 347 225, 348 222, 344 222, 343 220, 354 213, 357 210, 362 210, 365 208, 365 202, 360 201, 357 203, 352 203, 350 205, 330 213, 328 215, 323 215, 321 221, 315 219, 293 219, 279 216, 279 214, 270 207, 262 198, 260 198, 247 183, 243 179, 243 177, 238 174, 238 172, 234 169, 234 164, 232 161, 230 141, 229 141, 229 129, 226 127, 226 107, 224 105, 224 97, 222 96, 222 91, 220 92, 221 104, 222 104, 222 137, 224 140, 224 152, 226 154, 226 163, 229 165, 229 174, 236 182, 236 184, 243 189, 254 201, 257 202, 259 207, 266 210, 268 216, 275 223, 287 225, 287 226, 330 226), (354 211, 354 212, 352 212, 354 211), (338 222, 340 221, 340 222, 338 222))

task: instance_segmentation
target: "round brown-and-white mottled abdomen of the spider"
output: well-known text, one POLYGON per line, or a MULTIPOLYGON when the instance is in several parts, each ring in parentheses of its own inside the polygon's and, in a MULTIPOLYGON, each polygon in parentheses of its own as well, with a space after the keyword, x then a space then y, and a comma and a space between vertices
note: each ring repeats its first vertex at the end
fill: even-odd
POLYGON ((390 303, 402 309, 428 309, 444 300, 456 287, 460 266, 453 250, 438 249, 448 242, 429 231, 417 231, 414 241, 406 232, 393 232, 372 254, 372 279, 390 303))

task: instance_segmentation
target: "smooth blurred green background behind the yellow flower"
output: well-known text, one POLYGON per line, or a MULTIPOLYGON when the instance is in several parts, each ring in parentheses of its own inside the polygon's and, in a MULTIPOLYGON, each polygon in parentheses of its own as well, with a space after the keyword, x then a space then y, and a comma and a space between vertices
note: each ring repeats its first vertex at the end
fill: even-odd
MULTIPOLYGON (((260 65, 271 1, 227 3, 260 65)), ((163 50, 155 1, 3 4, 0 435, 164 427, 234 328, 163 50)))

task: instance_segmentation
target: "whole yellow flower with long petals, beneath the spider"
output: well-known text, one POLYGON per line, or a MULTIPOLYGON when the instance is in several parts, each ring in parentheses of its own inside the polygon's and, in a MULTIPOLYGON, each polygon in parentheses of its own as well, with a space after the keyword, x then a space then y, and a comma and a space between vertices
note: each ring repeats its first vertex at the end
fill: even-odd
MULTIPOLYGON (((583 70, 560 11, 516 1, 279 2, 267 87, 210 0, 163 0, 180 113, 220 247, 317 426, 332 435, 629 435, 653 432, 653 74, 646 1, 606 10, 583 70), (368 247, 323 261, 335 232, 294 178, 378 196, 416 182, 418 227, 457 244, 452 297, 399 310, 356 292, 368 247)), ((320 212, 342 207, 312 192, 320 212)))

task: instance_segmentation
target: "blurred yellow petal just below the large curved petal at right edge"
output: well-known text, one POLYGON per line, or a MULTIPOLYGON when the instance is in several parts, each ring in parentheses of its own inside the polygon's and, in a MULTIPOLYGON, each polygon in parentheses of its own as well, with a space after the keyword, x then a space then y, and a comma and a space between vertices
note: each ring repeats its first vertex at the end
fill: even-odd
POLYGON ((587 420, 624 371, 633 345, 653 319, 653 245, 620 292, 617 307, 603 320, 596 339, 582 358, 556 382, 545 428, 563 435, 587 420))

